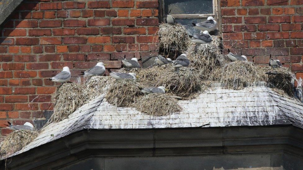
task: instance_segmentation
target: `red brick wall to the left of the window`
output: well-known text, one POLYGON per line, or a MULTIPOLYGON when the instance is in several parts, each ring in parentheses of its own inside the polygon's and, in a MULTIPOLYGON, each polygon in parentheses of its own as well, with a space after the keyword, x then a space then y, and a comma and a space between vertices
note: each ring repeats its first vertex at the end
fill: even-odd
POLYGON ((64 66, 76 81, 100 60, 115 69, 124 54, 158 54, 157 0, 33 1, 23 2, 0 31, 0 127, 44 119, 57 88, 46 79, 64 66))

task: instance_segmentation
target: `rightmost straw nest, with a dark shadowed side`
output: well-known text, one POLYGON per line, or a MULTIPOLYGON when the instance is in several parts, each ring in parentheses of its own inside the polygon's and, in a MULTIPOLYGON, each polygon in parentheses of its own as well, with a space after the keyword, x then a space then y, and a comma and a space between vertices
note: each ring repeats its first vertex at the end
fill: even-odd
MULTIPOLYGON (((267 82, 267 85, 270 88, 274 89, 282 89, 284 93, 280 91, 279 94, 288 94, 289 96, 294 96, 294 82, 295 78, 293 77, 293 73, 289 70, 289 68, 285 67, 262 67, 259 69, 259 75, 267 82), (270 74, 265 74, 270 73, 270 74)), ((277 90, 274 90, 279 92, 277 90)))

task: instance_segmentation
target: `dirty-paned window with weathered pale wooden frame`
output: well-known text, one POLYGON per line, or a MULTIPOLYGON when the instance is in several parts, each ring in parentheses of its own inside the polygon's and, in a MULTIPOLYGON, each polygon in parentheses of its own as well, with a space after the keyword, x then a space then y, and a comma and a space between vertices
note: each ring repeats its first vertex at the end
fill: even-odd
MULTIPOLYGON (((200 32, 191 26, 192 22, 201 22, 209 16, 214 17, 215 20, 218 18, 217 0, 162 0, 160 8, 162 8, 164 18, 171 9, 170 15, 178 23, 184 25, 190 33, 200 32)), ((164 21, 164 18, 162 21, 164 21)))

